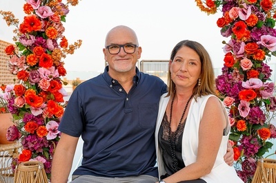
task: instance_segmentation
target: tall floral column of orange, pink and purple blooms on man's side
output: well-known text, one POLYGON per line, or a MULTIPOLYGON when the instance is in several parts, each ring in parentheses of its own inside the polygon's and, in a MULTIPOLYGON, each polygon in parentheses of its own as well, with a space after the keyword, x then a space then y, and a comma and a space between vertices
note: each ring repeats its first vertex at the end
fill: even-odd
POLYGON ((57 130, 63 115, 66 96, 60 76, 66 76, 62 58, 74 54, 81 40, 68 45, 63 23, 68 6, 76 6, 78 0, 26 0, 26 13, 19 24, 12 12, 0 11, 8 26, 15 25, 14 45, 6 47, 10 56, 8 68, 17 75, 19 83, 1 85, 3 98, 16 125, 10 127, 7 139, 19 140, 22 151, 12 160, 15 169, 20 162, 41 161, 50 180, 52 156, 60 138, 57 130))

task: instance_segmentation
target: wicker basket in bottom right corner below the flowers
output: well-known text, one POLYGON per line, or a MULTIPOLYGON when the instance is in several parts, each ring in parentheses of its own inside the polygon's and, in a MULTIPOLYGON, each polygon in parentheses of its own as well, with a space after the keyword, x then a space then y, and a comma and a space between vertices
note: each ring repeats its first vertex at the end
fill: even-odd
POLYGON ((262 159, 257 162, 257 169, 252 183, 275 183, 276 160, 262 159))

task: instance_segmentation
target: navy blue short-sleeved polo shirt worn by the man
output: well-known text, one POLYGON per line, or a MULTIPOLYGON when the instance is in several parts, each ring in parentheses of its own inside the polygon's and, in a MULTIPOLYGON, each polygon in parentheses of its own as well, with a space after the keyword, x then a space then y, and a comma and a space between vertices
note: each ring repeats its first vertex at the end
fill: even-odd
POLYGON ((155 122, 167 86, 157 76, 136 73, 128 94, 106 67, 70 96, 59 131, 83 138, 83 161, 73 175, 158 177, 155 122))

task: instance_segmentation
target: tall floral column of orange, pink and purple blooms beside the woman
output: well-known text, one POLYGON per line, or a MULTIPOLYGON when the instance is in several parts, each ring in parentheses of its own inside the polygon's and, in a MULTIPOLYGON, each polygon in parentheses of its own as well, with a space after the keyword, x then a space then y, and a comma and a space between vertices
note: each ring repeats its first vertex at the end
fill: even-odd
POLYGON ((276 55, 275 0, 206 0, 197 5, 208 14, 217 12, 212 8, 221 8, 217 26, 222 36, 230 37, 228 43, 223 42, 224 67, 216 86, 229 110, 235 169, 249 183, 257 161, 273 147, 269 139, 276 138, 276 128, 270 123, 276 116, 275 86, 267 65, 276 55))

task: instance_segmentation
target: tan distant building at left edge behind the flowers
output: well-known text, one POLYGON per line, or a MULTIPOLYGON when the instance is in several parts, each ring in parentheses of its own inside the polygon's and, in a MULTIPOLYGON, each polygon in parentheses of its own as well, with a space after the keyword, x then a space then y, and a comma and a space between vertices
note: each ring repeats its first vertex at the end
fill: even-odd
POLYGON ((17 76, 10 74, 8 71, 8 60, 10 57, 5 53, 5 48, 11 44, 0 40, 0 85, 10 85, 14 83, 14 79, 17 80, 17 76))

